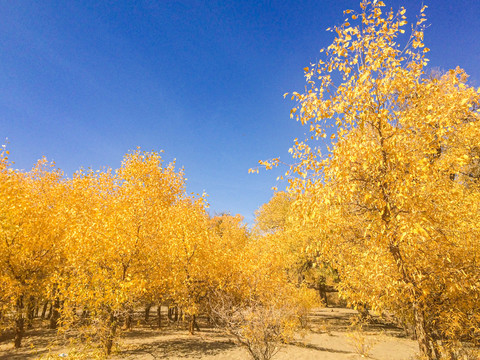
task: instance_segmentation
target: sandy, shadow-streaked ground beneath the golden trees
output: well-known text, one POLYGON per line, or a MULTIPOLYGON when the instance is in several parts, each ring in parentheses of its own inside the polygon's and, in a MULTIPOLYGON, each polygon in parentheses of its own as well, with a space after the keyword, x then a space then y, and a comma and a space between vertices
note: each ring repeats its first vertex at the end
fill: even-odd
MULTIPOLYGON (((373 317, 359 331, 352 327, 358 313, 345 308, 320 308, 310 315, 308 328, 295 341, 283 346, 273 360, 412 360, 417 343, 405 336, 403 330, 373 317)), ((170 324, 161 329, 139 322, 126 331, 111 360, 249 359, 245 348, 223 331, 199 321, 200 332, 190 335, 186 325, 170 324)), ((164 324, 166 322, 164 321, 164 324)), ((165 324, 166 325, 166 324, 165 324)), ((23 359, 94 359, 94 355, 79 356, 85 350, 61 346, 54 330, 29 330, 20 349, 14 349, 8 336, 0 337, 0 360, 23 359)), ((84 354, 83 354, 84 355, 84 354)))

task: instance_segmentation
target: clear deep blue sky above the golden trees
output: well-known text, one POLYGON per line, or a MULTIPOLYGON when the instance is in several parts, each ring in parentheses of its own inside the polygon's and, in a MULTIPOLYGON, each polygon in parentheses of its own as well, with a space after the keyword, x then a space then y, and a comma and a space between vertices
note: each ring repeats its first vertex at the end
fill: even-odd
MULTIPOLYGON (((388 1, 413 19, 420 1, 388 1)), ((0 142, 15 167, 117 168, 140 146, 184 167, 211 212, 253 212, 279 171, 248 174, 304 130, 283 94, 359 1, 0 0, 0 142)), ((425 0, 431 66, 480 86, 480 1, 425 0)), ((284 186, 280 184, 280 187, 284 186)))

